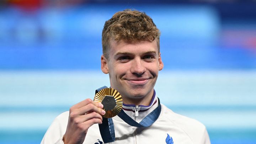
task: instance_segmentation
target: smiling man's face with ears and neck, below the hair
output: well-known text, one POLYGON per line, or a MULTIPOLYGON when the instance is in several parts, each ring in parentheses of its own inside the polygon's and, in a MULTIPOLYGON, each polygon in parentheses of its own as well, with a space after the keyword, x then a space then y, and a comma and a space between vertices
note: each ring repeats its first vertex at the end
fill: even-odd
POLYGON ((112 40, 110 47, 109 59, 101 57, 101 69, 109 73, 111 88, 122 95, 126 104, 148 105, 158 71, 164 66, 156 41, 112 40))

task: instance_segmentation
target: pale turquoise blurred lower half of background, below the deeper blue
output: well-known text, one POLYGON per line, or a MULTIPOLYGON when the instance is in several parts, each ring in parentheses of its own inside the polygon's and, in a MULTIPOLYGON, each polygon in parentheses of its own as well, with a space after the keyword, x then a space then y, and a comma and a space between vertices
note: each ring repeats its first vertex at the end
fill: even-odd
MULTIPOLYGON (((98 87, 101 71, 0 71, 0 143, 40 143, 53 119, 98 87)), ((256 71, 160 71, 160 101, 206 125, 212 144, 256 144, 256 71)))

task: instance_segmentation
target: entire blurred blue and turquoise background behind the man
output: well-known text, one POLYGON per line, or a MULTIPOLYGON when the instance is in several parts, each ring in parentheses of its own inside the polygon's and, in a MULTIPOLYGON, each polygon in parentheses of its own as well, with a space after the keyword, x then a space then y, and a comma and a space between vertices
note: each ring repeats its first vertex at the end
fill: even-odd
POLYGON ((58 114, 110 86, 101 31, 124 9, 161 31, 162 103, 212 144, 256 144, 256 0, 1 0, 0 143, 40 143, 58 114))

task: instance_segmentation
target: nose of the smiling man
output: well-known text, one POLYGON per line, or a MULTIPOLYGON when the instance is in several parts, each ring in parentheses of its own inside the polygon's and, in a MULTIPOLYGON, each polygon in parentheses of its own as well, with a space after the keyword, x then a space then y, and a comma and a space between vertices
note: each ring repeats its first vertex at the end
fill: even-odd
POLYGON ((143 65, 143 60, 140 58, 133 59, 131 72, 133 74, 141 75, 146 71, 145 66, 143 65))

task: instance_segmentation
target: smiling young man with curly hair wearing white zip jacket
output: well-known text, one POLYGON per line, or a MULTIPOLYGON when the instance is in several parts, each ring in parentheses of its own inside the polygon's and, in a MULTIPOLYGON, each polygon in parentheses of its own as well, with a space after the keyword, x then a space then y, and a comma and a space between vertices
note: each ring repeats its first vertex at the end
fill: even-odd
POLYGON ((60 114, 41 143, 210 144, 203 124, 172 112, 156 97, 154 85, 164 66, 159 36, 143 12, 124 10, 106 21, 101 70, 109 74, 111 88, 122 95, 122 115, 102 118, 103 105, 86 99, 60 114), (99 127, 106 122, 103 131, 99 127))

